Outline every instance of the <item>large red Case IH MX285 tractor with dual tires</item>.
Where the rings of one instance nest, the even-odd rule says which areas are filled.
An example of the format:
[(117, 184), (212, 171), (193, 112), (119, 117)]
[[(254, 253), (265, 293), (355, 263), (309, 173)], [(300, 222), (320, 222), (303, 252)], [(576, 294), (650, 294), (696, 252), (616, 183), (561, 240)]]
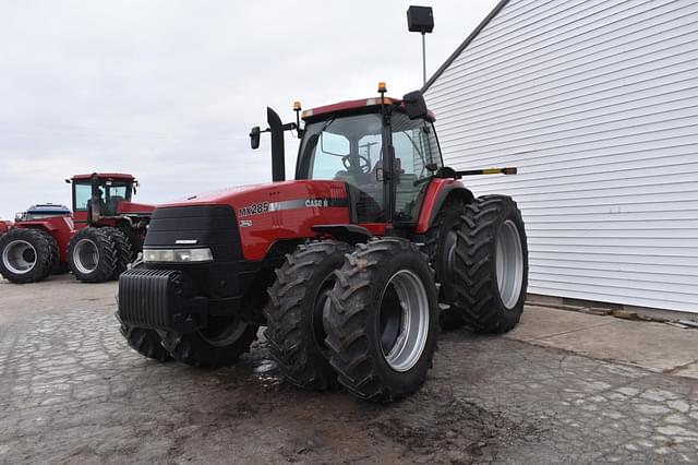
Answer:
[[(158, 206), (143, 261), (119, 279), (122, 334), (161, 361), (234, 362), (265, 336), (292, 383), (392, 402), (418, 390), (443, 325), (502, 333), (519, 321), (528, 252), (504, 195), (476, 198), (443, 166), (419, 92), (267, 109), (273, 183)], [(285, 181), (284, 131), (301, 138)]]

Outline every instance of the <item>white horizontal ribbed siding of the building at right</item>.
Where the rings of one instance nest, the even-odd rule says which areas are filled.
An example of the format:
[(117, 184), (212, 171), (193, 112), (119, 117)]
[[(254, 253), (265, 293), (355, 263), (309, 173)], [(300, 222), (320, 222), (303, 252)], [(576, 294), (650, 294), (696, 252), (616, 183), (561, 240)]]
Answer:
[(698, 312), (698, 2), (512, 0), (426, 90), (526, 220), (529, 291)]

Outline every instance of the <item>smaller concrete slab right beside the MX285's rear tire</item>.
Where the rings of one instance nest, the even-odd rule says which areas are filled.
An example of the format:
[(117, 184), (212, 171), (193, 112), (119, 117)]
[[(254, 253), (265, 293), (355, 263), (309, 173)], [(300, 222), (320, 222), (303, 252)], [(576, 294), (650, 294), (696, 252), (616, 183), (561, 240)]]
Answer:
[(534, 341), (610, 324), (611, 317), (599, 317), (549, 307), (526, 306), (521, 322), (506, 337)]

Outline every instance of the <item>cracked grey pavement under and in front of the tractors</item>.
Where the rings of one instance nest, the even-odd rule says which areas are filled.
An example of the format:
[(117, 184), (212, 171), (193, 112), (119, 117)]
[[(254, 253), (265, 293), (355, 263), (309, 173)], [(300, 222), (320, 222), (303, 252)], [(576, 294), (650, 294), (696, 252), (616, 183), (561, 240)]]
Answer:
[(200, 371), (132, 351), (116, 285), (0, 281), (2, 463), (690, 463), (698, 382), (466, 331), (381, 406), (304, 392), (263, 339)]

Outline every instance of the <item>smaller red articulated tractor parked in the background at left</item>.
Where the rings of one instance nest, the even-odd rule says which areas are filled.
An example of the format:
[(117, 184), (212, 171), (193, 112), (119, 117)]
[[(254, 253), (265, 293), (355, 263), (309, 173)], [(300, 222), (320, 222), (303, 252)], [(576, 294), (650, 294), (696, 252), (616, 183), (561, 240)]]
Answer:
[(65, 182), (72, 184), (72, 217), (37, 205), (0, 236), (0, 274), (9, 281), (35, 283), (69, 269), (85, 283), (116, 279), (142, 249), (154, 206), (131, 202), (133, 176), (76, 175)]

